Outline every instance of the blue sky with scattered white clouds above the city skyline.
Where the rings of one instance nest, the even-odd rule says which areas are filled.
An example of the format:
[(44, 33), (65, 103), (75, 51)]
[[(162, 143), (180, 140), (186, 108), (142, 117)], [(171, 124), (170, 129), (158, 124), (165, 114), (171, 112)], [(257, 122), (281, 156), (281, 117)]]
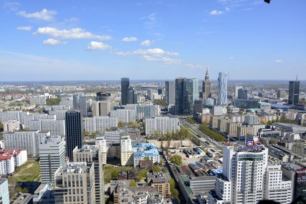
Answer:
[(306, 79), (305, 0), (0, 0), (0, 81)]

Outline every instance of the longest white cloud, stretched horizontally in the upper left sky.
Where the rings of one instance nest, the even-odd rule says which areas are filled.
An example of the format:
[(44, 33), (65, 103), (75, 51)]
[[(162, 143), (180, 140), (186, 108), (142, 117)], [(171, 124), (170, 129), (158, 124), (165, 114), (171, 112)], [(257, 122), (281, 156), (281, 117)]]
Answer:
[(53, 27), (40, 27), (33, 33), (34, 35), (49, 35), (55, 38), (63, 39), (100, 39), (100, 40), (109, 40), (111, 36), (109, 35), (96, 35), (91, 32), (85, 32), (82, 28), (72, 28), (70, 30), (58, 30)]

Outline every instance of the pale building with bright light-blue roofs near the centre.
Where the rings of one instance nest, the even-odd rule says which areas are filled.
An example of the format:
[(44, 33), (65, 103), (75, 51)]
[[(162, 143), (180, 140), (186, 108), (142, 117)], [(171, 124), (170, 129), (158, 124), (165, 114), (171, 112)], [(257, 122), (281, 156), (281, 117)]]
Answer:
[(160, 155), (154, 143), (133, 143), (134, 166), (138, 166), (141, 160), (149, 157), (153, 163), (160, 163)]

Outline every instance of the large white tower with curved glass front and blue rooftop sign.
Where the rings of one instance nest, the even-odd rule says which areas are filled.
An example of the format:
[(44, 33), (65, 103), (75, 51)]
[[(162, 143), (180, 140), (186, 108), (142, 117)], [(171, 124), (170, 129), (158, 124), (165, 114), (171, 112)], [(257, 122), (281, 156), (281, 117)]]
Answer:
[[(214, 189), (216, 198), (211, 198), (212, 193), (209, 195), (210, 202), (216, 204), (223, 200), (224, 203), (257, 204), (263, 200), (267, 165), (268, 148), (264, 146), (223, 145), (222, 177)], [(221, 181), (230, 185), (226, 189), (219, 188)]]

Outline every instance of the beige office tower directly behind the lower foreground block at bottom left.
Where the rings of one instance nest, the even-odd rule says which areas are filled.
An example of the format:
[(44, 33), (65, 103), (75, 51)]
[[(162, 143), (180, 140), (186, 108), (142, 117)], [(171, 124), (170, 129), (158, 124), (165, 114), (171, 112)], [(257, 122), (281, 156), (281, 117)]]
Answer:
[(84, 145), (73, 150), (73, 161), (86, 162), (88, 168), (94, 164), (95, 169), (95, 198), (96, 204), (104, 204), (104, 177), (102, 153), (99, 145)]

